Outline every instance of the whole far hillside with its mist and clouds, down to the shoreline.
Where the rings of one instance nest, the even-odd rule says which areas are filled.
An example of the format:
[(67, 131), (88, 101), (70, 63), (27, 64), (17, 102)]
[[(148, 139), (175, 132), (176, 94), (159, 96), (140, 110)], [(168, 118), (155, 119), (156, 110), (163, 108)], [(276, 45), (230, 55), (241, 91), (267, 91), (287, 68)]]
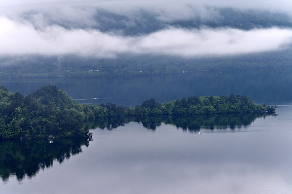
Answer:
[(289, 66), (290, 4), (259, 5), (5, 2), (0, 8), (0, 77), (161, 75)]

